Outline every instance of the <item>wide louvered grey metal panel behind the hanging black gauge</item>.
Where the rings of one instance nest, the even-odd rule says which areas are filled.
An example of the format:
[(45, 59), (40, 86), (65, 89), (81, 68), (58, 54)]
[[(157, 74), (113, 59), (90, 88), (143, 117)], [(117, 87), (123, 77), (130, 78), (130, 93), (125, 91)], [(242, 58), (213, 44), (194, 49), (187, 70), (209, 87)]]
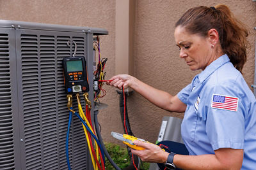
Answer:
[[(86, 56), (85, 34), (17, 29), (16, 39), (20, 134), (24, 139), (22, 169), (68, 169), (67, 94), (61, 62), (74, 53), (74, 46), (67, 45), (68, 40), (76, 41), (77, 55)], [(72, 169), (86, 169), (87, 144), (76, 117), (72, 117), (69, 141)]]

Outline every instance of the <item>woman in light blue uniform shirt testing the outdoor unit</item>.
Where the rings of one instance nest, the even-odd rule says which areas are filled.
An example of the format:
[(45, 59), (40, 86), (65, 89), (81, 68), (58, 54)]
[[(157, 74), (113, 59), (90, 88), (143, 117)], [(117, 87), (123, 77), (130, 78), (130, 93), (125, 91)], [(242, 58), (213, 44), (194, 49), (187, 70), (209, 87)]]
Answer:
[(189, 155), (141, 141), (135, 145), (145, 150), (132, 153), (181, 169), (255, 169), (256, 101), (241, 74), (247, 35), (225, 5), (191, 8), (174, 32), (180, 57), (191, 70), (202, 69), (187, 87), (171, 96), (129, 75), (111, 78), (110, 85), (131, 87), (164, 110), (185, 111), (181, 133)]

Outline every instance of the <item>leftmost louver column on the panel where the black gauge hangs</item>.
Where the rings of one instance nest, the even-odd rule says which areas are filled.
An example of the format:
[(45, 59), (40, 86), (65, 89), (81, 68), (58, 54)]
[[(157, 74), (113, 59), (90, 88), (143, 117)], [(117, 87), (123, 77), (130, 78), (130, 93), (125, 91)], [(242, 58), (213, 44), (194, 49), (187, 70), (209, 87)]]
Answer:
[(38, 39), (36, 35), (21, 35), (20, 39), (26, 169), (42, 169)]

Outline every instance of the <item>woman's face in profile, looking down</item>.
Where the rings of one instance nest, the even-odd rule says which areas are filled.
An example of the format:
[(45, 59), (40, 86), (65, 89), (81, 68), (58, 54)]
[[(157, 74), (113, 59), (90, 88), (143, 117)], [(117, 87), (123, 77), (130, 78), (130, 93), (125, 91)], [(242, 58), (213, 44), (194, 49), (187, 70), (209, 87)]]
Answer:
[(174, 37), (176, 45), (180, 48), (180, 58), (186, 61), (191, 70), (204, 70), (211, 64), (211, 44), (207, 38), (189, 34), (180, 26), (175, 29)]

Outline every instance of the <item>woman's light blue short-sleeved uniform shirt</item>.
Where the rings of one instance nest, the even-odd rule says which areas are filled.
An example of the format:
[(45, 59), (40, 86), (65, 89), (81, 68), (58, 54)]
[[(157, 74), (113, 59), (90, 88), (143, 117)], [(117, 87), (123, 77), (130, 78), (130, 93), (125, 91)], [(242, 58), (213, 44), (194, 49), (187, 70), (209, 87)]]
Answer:
[[(244, 149), (242, 169), (256, 169), (255, 97), (227, 55), (196, 75), (178, 97), (187, 105), (181, 134), (189, 155), (214, 154), (219, 148)], [(238, 101), (225, 109), (212, 105), (228, 97), (238, 97)]]

